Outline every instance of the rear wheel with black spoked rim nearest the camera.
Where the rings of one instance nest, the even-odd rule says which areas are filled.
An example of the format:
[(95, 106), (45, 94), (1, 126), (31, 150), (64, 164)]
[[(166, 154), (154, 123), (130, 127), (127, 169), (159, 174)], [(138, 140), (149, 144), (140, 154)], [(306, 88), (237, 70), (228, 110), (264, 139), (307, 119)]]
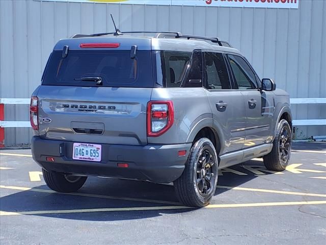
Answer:
[(193, 144), (182, 175), (174, 181), (176, 195), (186, 206), (204, 207), (212, 199), (217, 183), (218, 156), (212, 142), (201, 138)]

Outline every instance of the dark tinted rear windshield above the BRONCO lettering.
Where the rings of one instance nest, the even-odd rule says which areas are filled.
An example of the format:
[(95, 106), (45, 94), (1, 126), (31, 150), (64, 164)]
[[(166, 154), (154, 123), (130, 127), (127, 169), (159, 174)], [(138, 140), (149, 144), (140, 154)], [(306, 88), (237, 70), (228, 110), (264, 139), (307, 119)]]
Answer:
[(100, 77), (105, 87), (153, 87), (151, 51), (70, 50), (53, 51), (45, 70), (43, 85), (97, 86), (83, 77)]

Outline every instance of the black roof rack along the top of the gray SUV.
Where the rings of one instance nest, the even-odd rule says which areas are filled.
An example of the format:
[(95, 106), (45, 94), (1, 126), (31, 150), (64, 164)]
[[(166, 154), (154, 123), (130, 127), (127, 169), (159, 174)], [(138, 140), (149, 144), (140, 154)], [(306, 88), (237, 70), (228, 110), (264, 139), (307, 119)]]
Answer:
[[(196, 36), (196, 35), (186, 35), (182, 34), (180, 32), (148, 32), (148, 31), (143, 31), (143, 32), (119, 32), (117, 35), (116, 32), (104, 32), (104, 33), (94, 33), (94, 34), (75, 34), (71, 38), (78, 38), (78, 37), (99, 37), (99, 36), (105, 36), (105, 35), (123, 35), (123, 34), (135, 34), (135, 33), (154, 33), (156, 34), (154, 37), (155, 38), (166, 38), (166, 37), (175, 37), (175, 38), (186, 38), (186, 39), (202, 39), (202, 40), (207, 40), (211, 41), (213, 43), (217, 43), (220, 46), (227, 46), (227, 47), (232, 47), (228, 42), (220, 40), (218, 37), (203, 37), (203, 36)], [(224, 44), (224, 45), (223, 45)]]

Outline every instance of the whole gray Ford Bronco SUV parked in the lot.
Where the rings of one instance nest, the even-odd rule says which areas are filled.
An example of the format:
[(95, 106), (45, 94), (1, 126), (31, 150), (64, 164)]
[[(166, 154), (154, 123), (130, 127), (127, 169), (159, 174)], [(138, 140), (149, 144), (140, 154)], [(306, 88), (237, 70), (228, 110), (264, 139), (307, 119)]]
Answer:
[(285, 169), (288, 93), (219, 38), (133, 35), (78, 34), (53, 48), (30, 107), (49, 188), (74, 192), (88, 176), (173, 182), (181, 203), (202, 207), (221, 168), (263, 157)]

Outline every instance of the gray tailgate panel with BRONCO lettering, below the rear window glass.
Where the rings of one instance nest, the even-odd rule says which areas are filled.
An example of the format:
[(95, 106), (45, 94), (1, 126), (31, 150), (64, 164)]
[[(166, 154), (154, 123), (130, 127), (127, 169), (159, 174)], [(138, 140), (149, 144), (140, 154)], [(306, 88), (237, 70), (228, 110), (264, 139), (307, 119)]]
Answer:
[(152, 88), (41, 86), (39, 134), (74, 142), (146, 145)]

